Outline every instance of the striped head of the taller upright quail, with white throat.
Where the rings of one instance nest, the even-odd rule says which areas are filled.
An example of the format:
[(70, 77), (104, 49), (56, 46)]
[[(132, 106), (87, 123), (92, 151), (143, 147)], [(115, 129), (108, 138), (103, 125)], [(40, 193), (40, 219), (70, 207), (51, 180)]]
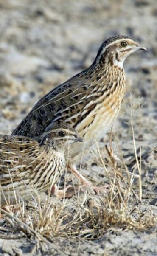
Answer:
[(95, 62), (99, 62), (101, 65), (107, 63), (123, 68), (126, 57), (138, 50), (146, 50), (146, 48), (130, 37), (110, 37), (99, 48)]

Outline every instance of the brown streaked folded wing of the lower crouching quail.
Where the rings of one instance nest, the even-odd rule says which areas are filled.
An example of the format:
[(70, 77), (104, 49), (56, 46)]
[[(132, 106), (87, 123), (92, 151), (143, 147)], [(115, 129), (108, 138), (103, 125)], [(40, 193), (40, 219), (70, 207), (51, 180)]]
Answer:
[(0, 135), (1, 186), (8, 183), (10, 176), (14, 181), (19, 180), (19, 174), (25, 174), (38, 149), (38, 142), (32, 139), (23, 136)]

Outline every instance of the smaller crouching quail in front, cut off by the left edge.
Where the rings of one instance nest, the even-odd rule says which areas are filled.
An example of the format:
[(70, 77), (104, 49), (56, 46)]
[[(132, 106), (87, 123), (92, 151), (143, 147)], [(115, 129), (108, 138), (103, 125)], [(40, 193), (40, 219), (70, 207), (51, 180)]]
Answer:
[(63, 196), (67, 188), (54, 191), (64, 171), (64, 151), (69, 143), (83, 141), (75, 129), (59, 124), (36, 140), (18, 135), (0, 135), (1, 205), (18, 196), (28, 199), (42, 191)]

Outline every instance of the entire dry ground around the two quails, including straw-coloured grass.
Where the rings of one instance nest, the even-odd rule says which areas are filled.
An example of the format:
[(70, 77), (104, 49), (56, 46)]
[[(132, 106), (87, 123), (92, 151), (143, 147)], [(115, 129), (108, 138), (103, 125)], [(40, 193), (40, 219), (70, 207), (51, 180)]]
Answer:
[[(45, 203), (43, 195), (10, 208), (0, 220), (0, 255), (157, 255), (156, 0), (1, 0), (0, 21), (5, 134), (45, 93), (88, 67), (104, 39), (127, 34), (148, 48), (125, 63), (127, 93), (112, 131), (120, 160), (107, 157), (108, 137), (81, 163), (88, 179), (110, 183), (109, 194), (76, 189), (68, 200)], [(70, 173), (66, 182), (78, 186)]]

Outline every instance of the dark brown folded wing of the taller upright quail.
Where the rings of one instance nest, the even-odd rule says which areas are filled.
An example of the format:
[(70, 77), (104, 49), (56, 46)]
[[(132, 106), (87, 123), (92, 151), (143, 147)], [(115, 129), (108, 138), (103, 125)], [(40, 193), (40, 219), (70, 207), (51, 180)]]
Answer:
[[(93, 101), (98, 98), (91, 78), (88, 81), (85, 75), (85, 72), (79, 73), (41, 98), (12, 134), (36, 138), (49, 125), (59, 122), (66, 122), (75, 128), (88, 111), (95, 108)], [(82, 109), (84, 116), (81, 115)]]

